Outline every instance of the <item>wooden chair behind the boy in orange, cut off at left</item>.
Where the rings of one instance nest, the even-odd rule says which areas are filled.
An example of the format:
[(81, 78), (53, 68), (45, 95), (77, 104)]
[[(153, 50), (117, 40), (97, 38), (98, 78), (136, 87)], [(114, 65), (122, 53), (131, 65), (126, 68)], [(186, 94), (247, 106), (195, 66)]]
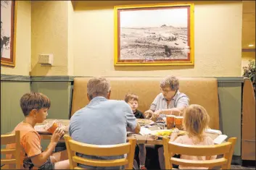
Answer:
[[(2, 148), (2, 145), (15, 144), (14, 149)], [(20, 131), (15, 131), (15, 134), (1, 135), (1, 169), (10, 168), (12, 164), (15, 164), (16, 169), (20, 169)], [(11, 158), (7, 155), (12, 155)]]

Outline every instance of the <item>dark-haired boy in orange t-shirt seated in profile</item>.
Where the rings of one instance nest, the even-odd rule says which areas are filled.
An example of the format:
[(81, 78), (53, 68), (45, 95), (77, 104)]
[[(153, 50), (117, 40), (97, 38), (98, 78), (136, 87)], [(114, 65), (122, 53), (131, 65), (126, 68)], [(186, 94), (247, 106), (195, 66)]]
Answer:
[[(63, 129), (55, 130), (44, 152), (41, 148), (41, 137), (34, 129), (37, 123), (44, 122), (50, 106), (50, 99), (42, 93), (26, 93), (20, 98), (20, 107), (25, 119), (17, 124), (12, 133), (20, 130), (21, 168), (23, 169), (69, 169), (67, 150), (52, 154), (60, 137), (65, 134)], [(7, 145), (7, 148), (15, 148), (15, 144)]]

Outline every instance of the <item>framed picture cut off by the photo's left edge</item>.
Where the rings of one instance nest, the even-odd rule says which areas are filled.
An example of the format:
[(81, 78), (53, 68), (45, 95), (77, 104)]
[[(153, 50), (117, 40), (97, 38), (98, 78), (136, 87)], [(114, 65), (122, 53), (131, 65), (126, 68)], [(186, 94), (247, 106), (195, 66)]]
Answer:
[(1, 1), (1, 66), (15, 67), (17, 1)]

